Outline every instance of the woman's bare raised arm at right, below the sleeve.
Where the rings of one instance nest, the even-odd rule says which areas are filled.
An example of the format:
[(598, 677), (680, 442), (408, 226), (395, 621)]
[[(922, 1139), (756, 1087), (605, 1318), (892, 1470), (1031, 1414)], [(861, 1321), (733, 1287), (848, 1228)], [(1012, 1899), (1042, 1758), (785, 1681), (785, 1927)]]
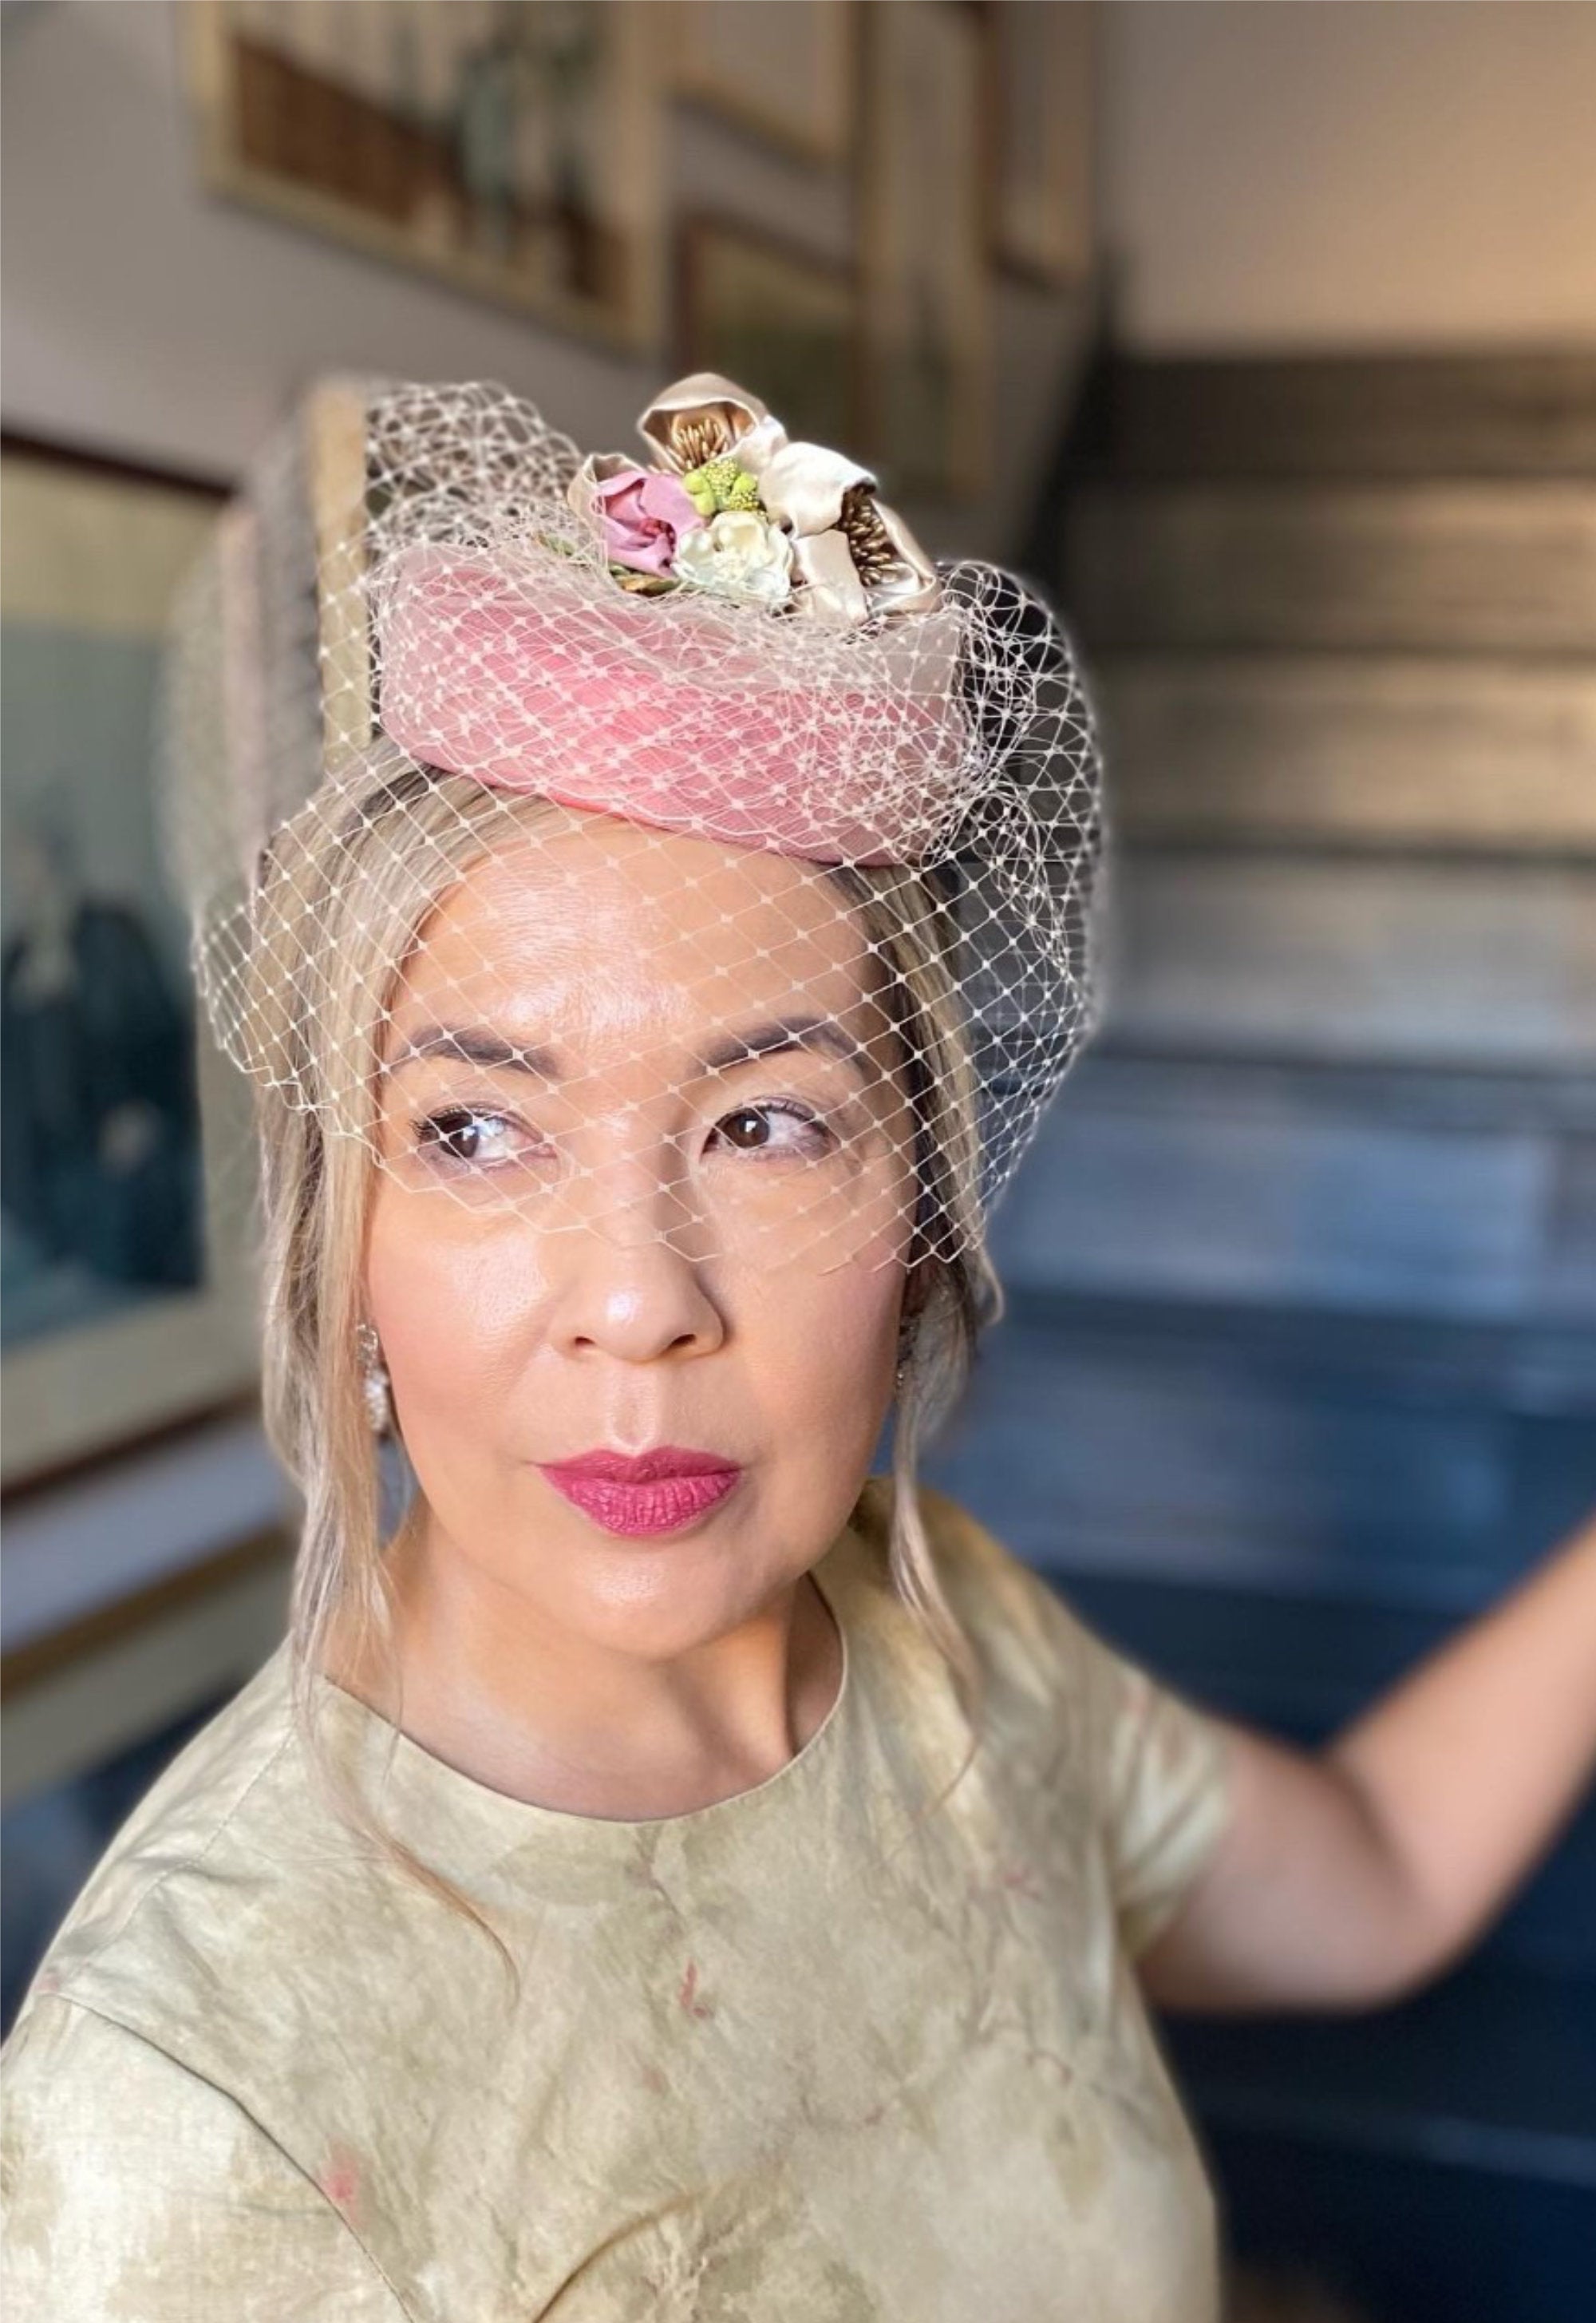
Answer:
[(1354, 2009), (1447, 1968), (1596, 1768), (1596, 1517), (1320, 1754), (1241, 1726), (1231, 1814), (1141, 1956), (1182, 2009)]

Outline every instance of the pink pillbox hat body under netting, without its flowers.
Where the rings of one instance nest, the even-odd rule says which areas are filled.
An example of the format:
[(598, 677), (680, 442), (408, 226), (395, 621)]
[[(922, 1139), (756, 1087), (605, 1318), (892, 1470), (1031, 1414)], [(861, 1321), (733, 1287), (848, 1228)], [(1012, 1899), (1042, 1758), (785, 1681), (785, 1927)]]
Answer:
[(913, 650), (860, 639), (853, 685), (855, 641), (825, 641), (820, 699), (767, 611), (627, 595), (551, 548), (409, 544), (374, 613), (383, 732), (495, 790), (857, 864), (913, 862), (966, 804), (952, 613), (922, 616)]

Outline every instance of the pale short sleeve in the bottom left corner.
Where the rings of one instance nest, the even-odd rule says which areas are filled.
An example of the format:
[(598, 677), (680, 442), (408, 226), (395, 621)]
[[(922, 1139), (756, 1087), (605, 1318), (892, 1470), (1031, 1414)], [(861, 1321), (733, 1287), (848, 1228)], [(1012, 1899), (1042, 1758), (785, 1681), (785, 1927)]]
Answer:
[(281, 2146), (137, 2033), (35, 1998), (0, 2109), (5, 2323), (402, 2323)]

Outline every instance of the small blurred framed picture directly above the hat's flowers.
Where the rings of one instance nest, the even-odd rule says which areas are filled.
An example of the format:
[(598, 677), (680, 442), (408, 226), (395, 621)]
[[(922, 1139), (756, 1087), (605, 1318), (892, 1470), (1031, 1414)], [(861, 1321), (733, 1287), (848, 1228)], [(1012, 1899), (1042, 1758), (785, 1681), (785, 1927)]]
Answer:
[(762, 395), (799, 441), (860, 441), (855, 314), (848, 267), (727, 218), (681, 230), (683, 369)]

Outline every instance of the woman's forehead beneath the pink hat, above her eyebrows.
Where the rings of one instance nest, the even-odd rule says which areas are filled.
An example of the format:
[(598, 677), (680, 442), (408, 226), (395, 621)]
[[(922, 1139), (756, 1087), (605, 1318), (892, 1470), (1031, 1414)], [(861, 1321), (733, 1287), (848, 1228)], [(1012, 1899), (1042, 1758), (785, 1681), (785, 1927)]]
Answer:
[(460, 878), (404, 964), (393, 1027), (469, 1008), (527, 1043), (692, 1043), (748, 1015), (857, 1017), (874, 980), (857, 911), (820, 866), (595, 815)]

